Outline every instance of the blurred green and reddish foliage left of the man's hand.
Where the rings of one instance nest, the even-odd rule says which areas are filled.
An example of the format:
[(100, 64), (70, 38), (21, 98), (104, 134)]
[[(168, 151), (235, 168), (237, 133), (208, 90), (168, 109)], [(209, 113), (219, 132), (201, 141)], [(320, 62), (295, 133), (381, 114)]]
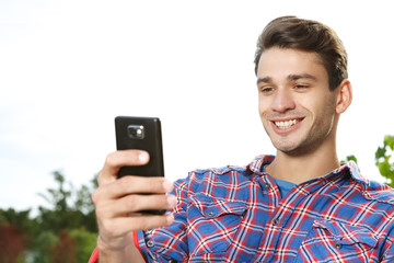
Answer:
[(48, 206), (39, 206), (35, 218), (31, 209), (0, 209), (0, 262), (88, 262), (97, 238), (91, 201), (96, 176), (79, 188), (58, 171), (53, 176), (56, 186), (39, 193)]

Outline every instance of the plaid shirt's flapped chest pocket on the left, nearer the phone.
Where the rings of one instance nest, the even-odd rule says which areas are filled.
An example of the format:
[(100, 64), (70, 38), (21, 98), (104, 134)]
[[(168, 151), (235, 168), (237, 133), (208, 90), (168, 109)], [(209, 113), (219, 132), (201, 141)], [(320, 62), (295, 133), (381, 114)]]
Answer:
[(189, 252), (194, 255), (221, 253), (231, 245), (246, 210), (242, 202), (229, 202), (206, 195), (190, 196), (187, 208)]

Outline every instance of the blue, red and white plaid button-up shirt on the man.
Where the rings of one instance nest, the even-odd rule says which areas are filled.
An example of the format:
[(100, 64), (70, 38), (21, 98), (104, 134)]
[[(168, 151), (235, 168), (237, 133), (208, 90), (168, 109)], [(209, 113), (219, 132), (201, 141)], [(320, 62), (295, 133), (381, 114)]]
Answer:
[(175, 182), (175, 221), (138, 231), (148, 262), (394, 262), (394, 192), (348, 162), (285, 198), (260, 167), (197, 170)]

